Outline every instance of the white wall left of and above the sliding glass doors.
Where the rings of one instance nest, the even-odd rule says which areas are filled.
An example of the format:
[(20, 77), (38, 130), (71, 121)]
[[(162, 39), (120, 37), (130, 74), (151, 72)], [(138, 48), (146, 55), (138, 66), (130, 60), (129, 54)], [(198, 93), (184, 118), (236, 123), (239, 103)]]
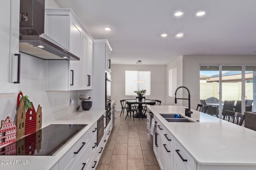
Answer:
[[(200, 101), (200, 64), (256, 64), (255, 56), (183, 56), (183, 86), (191, 93), (191, 107)], [(185, 92), (185, 91), (184, 91)], [(183, 93), (184, 95), (187, 93)], [(186, 97), (184, 96), (183, 97)], [(183, 101), (188, 106), (188, 101)]]

